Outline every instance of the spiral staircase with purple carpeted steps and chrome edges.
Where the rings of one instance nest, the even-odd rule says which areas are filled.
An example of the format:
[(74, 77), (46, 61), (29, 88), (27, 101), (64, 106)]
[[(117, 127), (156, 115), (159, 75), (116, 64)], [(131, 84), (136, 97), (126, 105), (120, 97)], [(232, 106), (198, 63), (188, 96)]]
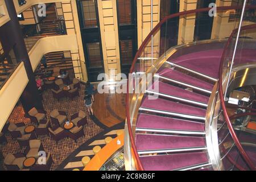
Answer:
[[(175, 15), (164, 19), (158, 24), (159, 27), (172, 17)], [(142, 57), (144, 45), (149, 44), (148, 42), (152, 40), (151, 36), (157, 29), (159, 30), (159, 27), (154, 28), (144, 40), (144, 44), (135, 56), (134, 65), (137, 59)], [(150, 171), (215, 169), (209, 156), (208, 131), (205, 122), (209, 114), (208, 107), (212, 104), (212, 101), (209, 101), (210, 96), (216, 93), (216, 90), (213, 93), (213, 89), (214, 85), (215, 88), (217, 87), (226, 41), (224, 40), (222, 46), (212, 46), (207, 50), (203, 48), (203, 51), (195, 46), (188, 53), (167, 57), (160, 67), (155, 66), (152, 86), (147, 88), (143, 96), (138, 99), (135, 109), (131, 108), (130, 102), (138, 97), (131, 99), (127, 94), (129, 104), (127, 105), (128, 130), (126, 131), (127, 133), (129, 131), (131, 150), (134, 151), (131, 158), (136, 161), (136, 169)], [(203, 45), (207, 47), (207, 43)], [(248, 60), (256, 61), (255, 51), (245, 49), (239, 52), (239, 55), (241, 63), (247, 63)], [(132, 67), (131, 73), (134, 72), (135, 68)], [(145, 72), (147, 73), (148, 69)], [(157, 98), (152, 99), (150, 96), (157, 96)], [(130, 113), (133, 113), (131, 118)], [(221, 127), (225, 125), (223, 118), (218, 121), (220, 124), (218, 125), (218, 131), (220, 130), (218, 146), (230, 140), (233, 141), (233, 135), (230, 134), (232, 131), (228, 133), (221, 131)], [(129, 126), (130, 123), (131, 126)], [(251, 137), (240, 138), (238, 142), (246, 142), (248, 138)], [(230, 161), (233, 161), (232, 163), (222, 160), (225, 163), (225, 169), (240, 169), (241, 166), (243, 166), (242, 169), (250, 169), (243, 156), (239, 155), (241, 151), (233, 146), (229, 147), (228, 152), (222, 156), (222, 159), (227, 156)], [(253, 152), (250, 148), (247, 154), (250, 155), (255, 166), (255, 151)], [(235, 163), (239, 163), (240, 167), (236, 167)]]

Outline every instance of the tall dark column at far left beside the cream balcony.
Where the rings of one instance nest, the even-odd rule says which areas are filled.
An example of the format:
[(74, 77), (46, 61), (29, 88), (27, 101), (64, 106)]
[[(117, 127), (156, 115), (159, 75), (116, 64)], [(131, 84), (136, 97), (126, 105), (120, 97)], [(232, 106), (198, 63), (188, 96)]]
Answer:
[[(43, 109), (41, 97), (36, 86), (35, 76), (32, 71), (30, 58), (28, 57), (26, 45), (20, 30), (19, 21), (15, 11), (13, 1), (5, 0), (6, 7), (10, 16), (10, 21), (2, 27), (1, 42), (5, 46), (14, 48), (15, 56), (18, 61), (23, 61), (28, 76), (28, 84), (24, 89), (20, 101), (23, 109), (27, 113), (32, 107)], [(4, 48), (5, 49), (5, 48)]]

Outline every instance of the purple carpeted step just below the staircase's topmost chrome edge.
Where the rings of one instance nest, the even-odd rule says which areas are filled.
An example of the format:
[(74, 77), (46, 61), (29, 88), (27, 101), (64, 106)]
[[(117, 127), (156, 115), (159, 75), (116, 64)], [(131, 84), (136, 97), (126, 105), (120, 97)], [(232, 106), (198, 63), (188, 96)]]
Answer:
[(209, 91), (212, 91), (212, 88), (213, 88), (213, 85), (209, 84), (208, 82), (199, 80), (198, 78), (186, 75), (184, 73), (178, 72), (171, 68), (163, 69), (161, 72), (159, 72), (159, 75), (163, 76), (163, 77), (170, 78), (172, 80), (183, 82), (185, 84), (203, 88), (203, 89), (206, 89)]

